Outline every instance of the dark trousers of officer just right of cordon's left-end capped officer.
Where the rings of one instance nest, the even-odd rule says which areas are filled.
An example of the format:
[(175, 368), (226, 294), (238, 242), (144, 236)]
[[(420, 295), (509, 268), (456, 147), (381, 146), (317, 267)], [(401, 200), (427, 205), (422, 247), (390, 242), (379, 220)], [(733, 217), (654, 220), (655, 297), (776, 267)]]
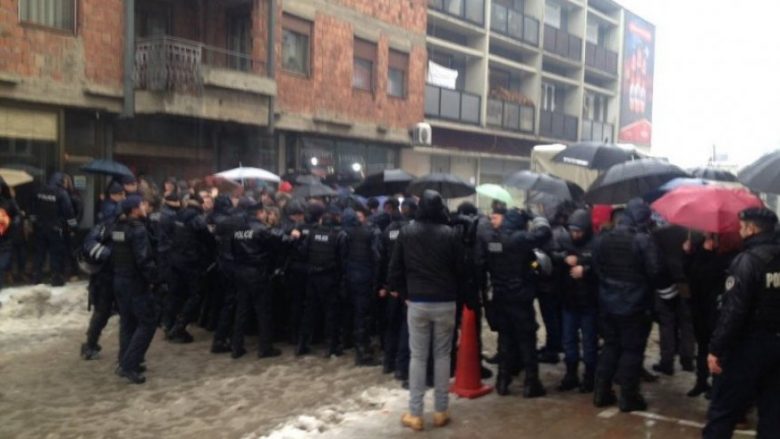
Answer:
[(171, 267), (164, 321), (166, 329), (174, 324), (185, 327), (195, 320), (201, 304), (203, 278), (203, 273), (175, 265)]

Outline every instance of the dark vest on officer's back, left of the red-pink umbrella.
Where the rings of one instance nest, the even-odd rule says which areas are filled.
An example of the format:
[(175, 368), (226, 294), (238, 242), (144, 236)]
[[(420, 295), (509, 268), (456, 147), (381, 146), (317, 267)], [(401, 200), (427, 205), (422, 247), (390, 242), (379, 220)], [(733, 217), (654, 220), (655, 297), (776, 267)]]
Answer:
[(634, 251), (636, 235), (628, 230), (607, 232), (599, 249), (602, 272), (605, 278), (628, 283), (645, 282), (645, 277)]

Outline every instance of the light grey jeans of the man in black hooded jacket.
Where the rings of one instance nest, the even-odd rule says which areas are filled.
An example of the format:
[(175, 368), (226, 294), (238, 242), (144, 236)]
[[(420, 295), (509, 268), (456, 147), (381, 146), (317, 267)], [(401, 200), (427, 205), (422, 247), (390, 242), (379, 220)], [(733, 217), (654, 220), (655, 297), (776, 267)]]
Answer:
[(449, 407), (450, 353), (455, 333), (455, 302), (409, 302), (409, 412), (422, 416), (428, 353), (433, 344), (434, 404), (437, 412)]

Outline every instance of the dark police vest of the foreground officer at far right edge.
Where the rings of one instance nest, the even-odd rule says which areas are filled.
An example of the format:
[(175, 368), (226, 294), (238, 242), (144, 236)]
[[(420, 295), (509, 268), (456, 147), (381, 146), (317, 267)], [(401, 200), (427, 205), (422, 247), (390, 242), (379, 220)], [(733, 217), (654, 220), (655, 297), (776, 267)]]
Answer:
[(753, 327), (780, 332), (780, 246), (760, 246), (748, 250), (757, 256), (761, 269), (761, 289), (753, 311)]

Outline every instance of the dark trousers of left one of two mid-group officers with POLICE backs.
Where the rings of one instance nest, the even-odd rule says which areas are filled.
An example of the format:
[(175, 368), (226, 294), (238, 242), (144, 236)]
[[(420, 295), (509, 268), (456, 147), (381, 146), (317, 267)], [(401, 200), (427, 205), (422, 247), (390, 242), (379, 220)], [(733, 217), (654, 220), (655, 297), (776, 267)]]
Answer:
[(257, 319), (257, 338), (260, 352), (271, 349), (273, 334), (271, 285), (264, 270), (254, 267), (236, 267), (236, 319), (231, 346), (234, 352), (244, 348), (244, 332), (252, 312)]

